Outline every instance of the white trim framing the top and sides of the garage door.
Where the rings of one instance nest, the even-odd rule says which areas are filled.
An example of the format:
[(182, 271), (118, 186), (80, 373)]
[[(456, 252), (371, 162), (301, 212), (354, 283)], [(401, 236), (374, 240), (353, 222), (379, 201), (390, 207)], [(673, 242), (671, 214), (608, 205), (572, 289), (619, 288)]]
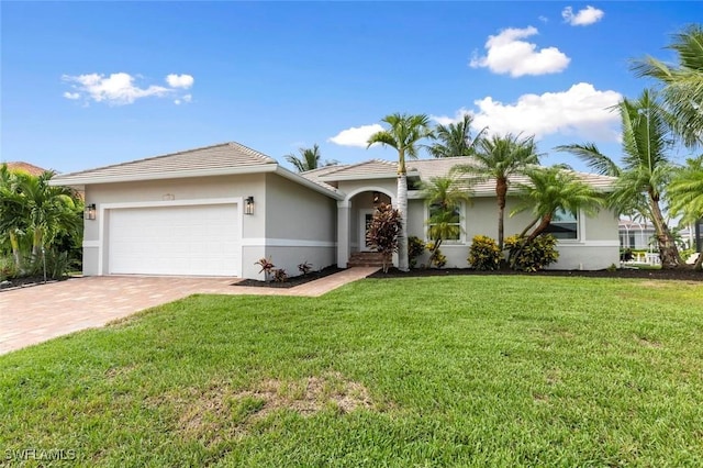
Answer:
[[(104, 258), (103, 255), (105, 253), (105, 232), (108, 231), (108, 216), (105, 215), (105, 211), (108, 210), (120, 210), (125, 208), (158, 208), (158, 207), (196, 207), (196, 205), (208, 205), (208, 204), (236, 204), (238, 215), (238, 236), (242, 238), (244, 234), (244, 210), (242, 210), (244, 199), (242, 197), (232, 197), (232, 198), (203, 198), (203, 199), (192, 199), (192, 200), (166, 200), (166, 201), (129, 201), (121, 203), (100, 203), (98, 205), (98, 241), (88, 241), (88, 242), (97, 242), (98, 243), (98, 275), (109, 275), (105, 270)], [(244, 248), (239, 243), (239, 258), (244, 259)], [(239, 265), (239, 276), (242, 276), (242, 265)]]

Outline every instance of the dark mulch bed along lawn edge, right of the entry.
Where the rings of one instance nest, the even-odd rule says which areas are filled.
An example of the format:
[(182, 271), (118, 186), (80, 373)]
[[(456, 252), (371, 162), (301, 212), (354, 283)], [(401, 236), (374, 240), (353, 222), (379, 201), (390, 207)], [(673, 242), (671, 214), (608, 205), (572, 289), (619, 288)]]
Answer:
[(417, 278), (433, 276), (460, 276), (460, 275), (529, 275), (529, 276), (561, 276), (561, 277), (584, 277), (584, 278), (645, 278), (645, 279), (669, 279), (682, 281), (703, 281), (703, 271), (693, 270), (692, 268), (682, 268), (676, 270), (645, 270), (620, 268), (613, 271), (609, 270), (545, 270), (535, 272), (514, 271), (511, 269), (500, 269), (495, 271), (477, 271), (470, 268), (423, 268), (412, 269), (410, 271), (400, 271), (391, 268), (387, 274), (379, 270), (369, 276), (369, 278)]

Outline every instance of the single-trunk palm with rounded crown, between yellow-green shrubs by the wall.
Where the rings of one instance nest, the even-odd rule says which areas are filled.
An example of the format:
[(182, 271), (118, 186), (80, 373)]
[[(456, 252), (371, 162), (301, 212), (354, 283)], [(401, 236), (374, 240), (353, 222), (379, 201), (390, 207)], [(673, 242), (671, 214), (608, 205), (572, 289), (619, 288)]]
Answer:
[(468, 174), (473, 180), (495, 179), (498, 198), (498, 247), (503, 250), (505, 200), (510, 177), (524, 174), (532, 166), (539, 164), (539, 154), (534, 137), (521, 138), (518, 135), (493, 135), (481, 138), (473, 155), (473, 163), (458, 165), (454, 171)]

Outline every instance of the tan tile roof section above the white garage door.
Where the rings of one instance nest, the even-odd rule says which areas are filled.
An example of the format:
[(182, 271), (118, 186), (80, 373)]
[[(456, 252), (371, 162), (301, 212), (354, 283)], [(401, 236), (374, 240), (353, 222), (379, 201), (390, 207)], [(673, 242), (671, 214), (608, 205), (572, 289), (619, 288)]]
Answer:
[(92, 181), (111, 178), (132, 178), (143, 180), (155, 175), (176, 175), (179, 172), (213, 171), (234, 167), (276, 165), (277, 161), (263, 153), (238, 143), (222, 143), (202, 148), (188, 149), (79, 172), (57, 176), (62, 179), (86, 179)]

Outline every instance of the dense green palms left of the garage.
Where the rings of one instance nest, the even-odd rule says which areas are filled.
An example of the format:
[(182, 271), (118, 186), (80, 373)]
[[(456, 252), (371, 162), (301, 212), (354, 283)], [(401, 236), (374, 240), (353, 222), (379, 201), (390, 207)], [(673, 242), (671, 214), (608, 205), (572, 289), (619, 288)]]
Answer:
[(53, 176), (0, 166), (0, 256), (11, 255), (20, 275), (45, 249), (82, 237), (82, 200), (68, 187), (49, 186)]

